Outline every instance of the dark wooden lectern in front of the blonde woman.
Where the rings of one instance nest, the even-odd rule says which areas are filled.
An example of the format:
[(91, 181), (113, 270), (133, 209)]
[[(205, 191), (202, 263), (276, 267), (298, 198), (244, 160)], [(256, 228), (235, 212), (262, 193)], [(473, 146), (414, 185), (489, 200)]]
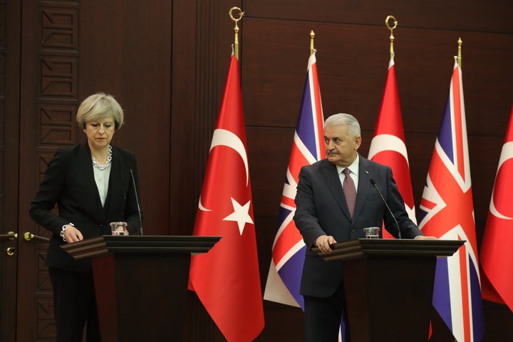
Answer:
[(62, 248), (92, 259), (102, 341), (182, 341), (191, 254), (220, 238), (105, 235)]

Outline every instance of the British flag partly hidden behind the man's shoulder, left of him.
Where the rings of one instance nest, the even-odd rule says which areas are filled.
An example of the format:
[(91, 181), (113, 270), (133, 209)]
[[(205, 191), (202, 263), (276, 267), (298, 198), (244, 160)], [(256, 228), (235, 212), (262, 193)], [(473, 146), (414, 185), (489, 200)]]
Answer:
[(296, 187), (299, 170), (326, 157), (323, 140), (323, 110), (315, 53), (309, 58), (301, 110), (281, 195), (279, 227), (272, 247), (264, 299), (304, 309), (299, 284), (306, 246), (294, 224)]

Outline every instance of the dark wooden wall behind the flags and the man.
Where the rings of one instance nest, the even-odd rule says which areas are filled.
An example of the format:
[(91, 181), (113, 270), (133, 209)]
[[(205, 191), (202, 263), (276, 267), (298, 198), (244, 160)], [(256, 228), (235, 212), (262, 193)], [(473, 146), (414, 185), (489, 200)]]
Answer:
[[(306, 0), (263, 0), (245, 1), (243, 6), (242, 92), (262, 289), (304, 89), (309, 32), (316, 33), (324, 116), (340, 112), (356, 115), (363, 130), (360, 152), (366, 156), (387, 75), (390, 31), (385, 27), (385, 17), (389, 14), (399, 21), (394, 32), (395, 71), (416, 207), (445, 110), (457, 39), (462, 38), (463, 88), (480, 245), (513, 102), (513, 26), (507, 14), (512, 5), (508, 1), (324, 0), (312, 4)], [(493, 321), (494, 331), (504, 329), (513, 319), (504, 306), (484, 305), (487, 324)], [(264, 307), (266, 327), (259, 341), (274, 341), (269, 336), (284, 331), (296, 334), (297, 327), (269, 323), (284, 315), (294, 316), (295, 308), (268, 301), (264, 301)], [(291, 341), (301, 341), (301, 333)], [(495, 341), (496, 336), (487, 331), (484, 341)]]

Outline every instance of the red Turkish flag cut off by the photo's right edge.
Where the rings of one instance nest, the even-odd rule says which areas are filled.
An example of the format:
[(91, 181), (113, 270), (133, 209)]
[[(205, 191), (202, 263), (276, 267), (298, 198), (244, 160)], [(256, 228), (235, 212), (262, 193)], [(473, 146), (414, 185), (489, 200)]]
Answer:
[(502, 152), (490, 199), (488, 219), (481, 245), (484, 274), (482, 297), (506, 304), (513, 311), (513, 249), (509, 242), (513, 231), (513, 108), (502, 145)]

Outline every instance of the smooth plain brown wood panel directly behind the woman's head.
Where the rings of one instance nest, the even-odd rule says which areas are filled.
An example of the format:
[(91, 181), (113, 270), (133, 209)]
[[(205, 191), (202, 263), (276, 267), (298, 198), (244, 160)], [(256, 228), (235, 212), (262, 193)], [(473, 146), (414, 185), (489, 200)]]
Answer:
[(125, 110), (113, 143), (138, 157), (145, 234), (170, 234), (172, 1), (82, 1), (81, 100), (103, 91)]

